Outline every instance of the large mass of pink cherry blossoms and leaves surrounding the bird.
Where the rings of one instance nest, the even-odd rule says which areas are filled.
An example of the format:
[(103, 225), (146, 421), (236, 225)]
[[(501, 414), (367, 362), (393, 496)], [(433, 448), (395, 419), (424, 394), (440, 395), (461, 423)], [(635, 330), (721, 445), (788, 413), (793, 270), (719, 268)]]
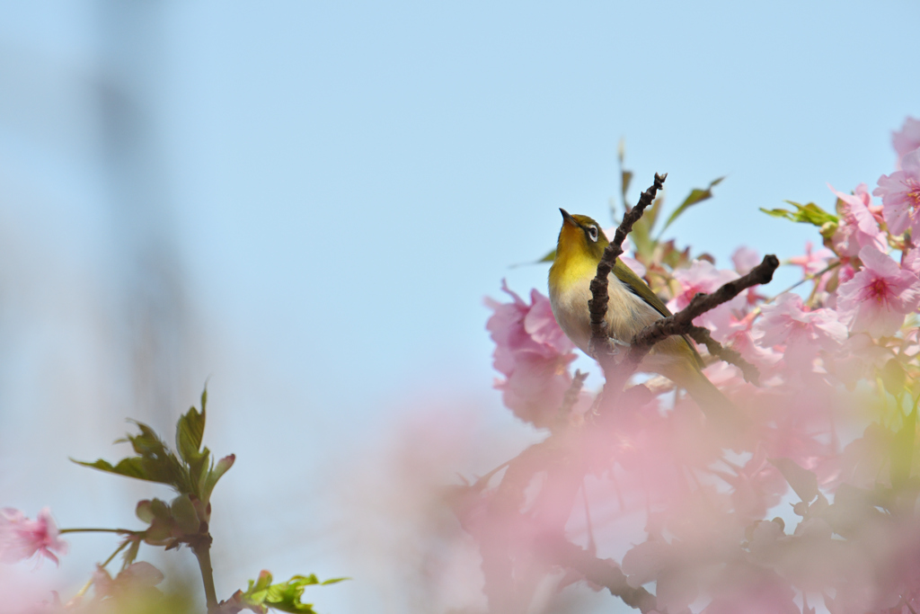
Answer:
[[(643, 612), (920, 611), (920, 121), (892, 144), (895, 168), (876, 187), (765, 211), (815, 226), (821, 246), (786, 260), (798, 284), (755, 286), (696, 319), (760, 372), (754, 385), (707, 357), (707, 377), (752, 424), (730, 447), (661, 377), (628, 388), (612, 415), (550, 423), (567, 410), (571, 344), (536, 290), (529, 305), (489, 303), (505, 404), (551, 429), (458, 506), (491, 609), (524, 611), (553, 573), (599, 587), (605, 565), (625, 579), (607, 588)], [(740, 248), (719, 269), (651, 239), (656, 207), (631, 256), (672, 311), (760, 260)], [(593, 572), (547, 546), (559, 539)]]

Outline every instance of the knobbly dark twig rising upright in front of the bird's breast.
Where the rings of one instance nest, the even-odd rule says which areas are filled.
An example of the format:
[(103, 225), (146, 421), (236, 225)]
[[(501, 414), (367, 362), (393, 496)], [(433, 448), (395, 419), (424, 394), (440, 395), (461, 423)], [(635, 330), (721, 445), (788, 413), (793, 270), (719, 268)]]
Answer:
[(667, 177), (667, 173), (655, 173), (655, 182), (648, 190), (642, 192), (636, 206), (623, 214), (623, 221), (616, 228), (614, 240), (604, 249), (604, 256), (597, 263), (597, 274), (591, 281), (591, 300), (588, 301), (588, 309), (591, 311), (591, 346), (594, 348), (595, 357), (613, 353), (605, 319), (607, 302), (610, 299), (607, 295), (607, 276), (613, 271), (616, 259), (623, 253), (623, 241), (632, 231), (633, 225), (642, 217), (645, 208), (654, 202), (655, 195), (661, 190)]

